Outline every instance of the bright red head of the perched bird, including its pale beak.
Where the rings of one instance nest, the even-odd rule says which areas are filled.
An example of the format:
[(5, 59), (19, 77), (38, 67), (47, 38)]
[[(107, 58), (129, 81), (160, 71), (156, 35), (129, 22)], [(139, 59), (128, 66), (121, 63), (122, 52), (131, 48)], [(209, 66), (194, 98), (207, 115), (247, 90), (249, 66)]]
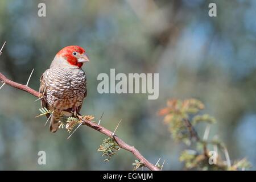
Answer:
[(69, 64), (75, 65), (79, 68), (82, 64), (89, 62), (89, 57), (85, 53), (85, 49), (80, 46), (67, 46), (61, 49), (57, 56), (63, 57)]

